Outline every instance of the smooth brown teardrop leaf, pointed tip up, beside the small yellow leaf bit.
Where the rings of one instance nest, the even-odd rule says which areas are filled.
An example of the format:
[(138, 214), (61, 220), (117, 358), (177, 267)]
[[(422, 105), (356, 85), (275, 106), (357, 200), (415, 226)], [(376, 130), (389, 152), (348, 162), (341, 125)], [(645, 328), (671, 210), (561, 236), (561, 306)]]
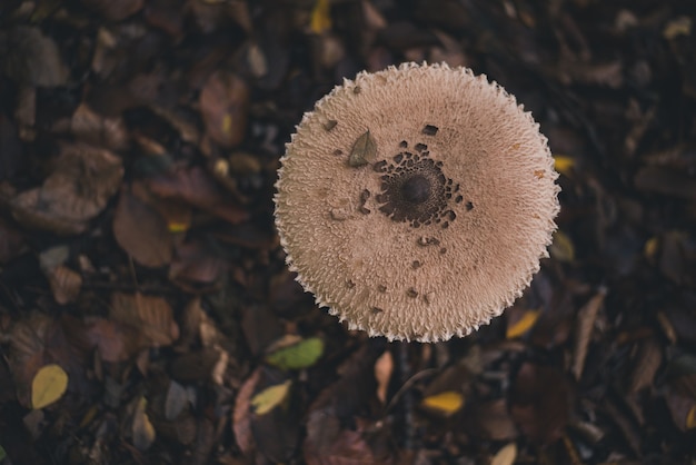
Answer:
[(113, 236), (140, 265), (160, 267), (171, 261), (172, 240), (157, 210), (121, 189), (113, 217)]

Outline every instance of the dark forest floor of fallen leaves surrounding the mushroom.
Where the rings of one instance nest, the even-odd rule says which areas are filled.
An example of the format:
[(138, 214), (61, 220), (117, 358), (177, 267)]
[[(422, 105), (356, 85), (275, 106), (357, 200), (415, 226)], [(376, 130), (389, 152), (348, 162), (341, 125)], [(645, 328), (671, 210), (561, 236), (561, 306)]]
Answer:
[[(0, 464), (696, 463), (695, 21), (683, 0), (2, 0)], [(344, 77), (424, 60), (533, 112), (561, 212), (503, 316), (388, 343), (294, 280), (274, 184)]]

